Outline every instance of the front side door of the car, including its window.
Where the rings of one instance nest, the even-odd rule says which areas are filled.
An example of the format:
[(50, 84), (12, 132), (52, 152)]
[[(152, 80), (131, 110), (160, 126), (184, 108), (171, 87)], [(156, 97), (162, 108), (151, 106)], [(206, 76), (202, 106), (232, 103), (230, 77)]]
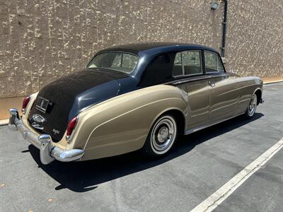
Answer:
[(210, 77), (209, 121), (236, 115), (239, 96), (236, 76), (226, 73), (216, 52), (204, 51), (204, 64), (206, 75)]

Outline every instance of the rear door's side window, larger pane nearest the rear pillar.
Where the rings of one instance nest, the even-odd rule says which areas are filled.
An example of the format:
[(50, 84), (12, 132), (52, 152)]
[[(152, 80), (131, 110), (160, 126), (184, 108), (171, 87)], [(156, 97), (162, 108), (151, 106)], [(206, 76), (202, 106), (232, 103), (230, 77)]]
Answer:
[(200, 51), (178, 52), (173, 64), (173, 76), (187, 76), (202, 73)]

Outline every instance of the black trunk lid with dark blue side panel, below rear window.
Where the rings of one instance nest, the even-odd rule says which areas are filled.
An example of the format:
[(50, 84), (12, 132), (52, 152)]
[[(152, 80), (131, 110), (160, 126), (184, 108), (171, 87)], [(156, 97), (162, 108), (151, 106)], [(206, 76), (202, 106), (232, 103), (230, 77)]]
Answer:
[(28, 121), (40, 134), (50, 134), (53, 141), (59, 141), (69, 120), (83, 108), (117, 95), (121, 78), (127, 75), (107, 69), (86, 69), (59, 78), (40, 90)]

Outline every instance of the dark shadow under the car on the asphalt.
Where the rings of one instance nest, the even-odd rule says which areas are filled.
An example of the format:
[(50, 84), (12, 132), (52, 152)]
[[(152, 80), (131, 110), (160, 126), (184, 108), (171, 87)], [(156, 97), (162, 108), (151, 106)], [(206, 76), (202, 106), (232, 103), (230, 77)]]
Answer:
[(39, 150), (33, 145), (28, 146), (28, 149), (38, 167), (59, 182), (60, 185), (55, 188), (56, 190), (67, 188), (74, 192), (88, 192), (89, 190), (96, 189), (103, 182), (166, 163), (168, 160), (190, 152), (192, 148), (204, 141), (260, 119), (262, 116), (263, 114), (256, 113), (252, 119), (236, 117), (194, 134), (182, 136), (171, 153), (159, 160), (146, 160), (139, 151), (135, 151), (111, 158), (72, 163), (54, 161), (49, 165), (42, 165), (40, 163)]

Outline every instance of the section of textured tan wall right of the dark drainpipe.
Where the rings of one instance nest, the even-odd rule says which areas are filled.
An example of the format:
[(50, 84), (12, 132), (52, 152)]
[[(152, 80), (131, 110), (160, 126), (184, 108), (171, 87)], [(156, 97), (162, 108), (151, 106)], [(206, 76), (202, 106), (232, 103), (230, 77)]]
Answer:
[(283, 76), (283, 1), (229, 1), (226, 57), (230, 71)]

